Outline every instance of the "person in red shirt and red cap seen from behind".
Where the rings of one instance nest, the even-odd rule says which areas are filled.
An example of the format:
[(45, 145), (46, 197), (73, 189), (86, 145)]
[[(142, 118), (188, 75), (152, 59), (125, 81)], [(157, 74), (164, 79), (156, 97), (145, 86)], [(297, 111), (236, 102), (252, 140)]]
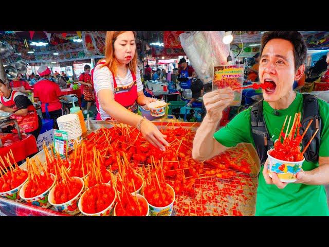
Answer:
[(51, 71), (47, 66), (40, 66), (38, 73), (42, 78), (34, 85), (34, 99), (41, 101), (43, 118), (52, 119), (53, 128), (58, 129), (57, 118), (63, 115), (62, 104), (59, 100), (66, 98), (62, 96), (58, 84), (49, 80)]

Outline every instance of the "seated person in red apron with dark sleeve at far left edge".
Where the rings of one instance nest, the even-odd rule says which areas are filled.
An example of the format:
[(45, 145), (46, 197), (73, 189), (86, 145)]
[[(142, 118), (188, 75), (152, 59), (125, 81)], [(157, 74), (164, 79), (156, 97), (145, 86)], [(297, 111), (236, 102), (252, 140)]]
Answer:
[[(35, 111), (35, 108), (29, 98), (21, 92), (11, 90), (0, 79), (0, 110), (5, 112), (13, 112), (17, 108), (21, 110), (15, 112), (10, 118), (16, 119), (20, 129), (23, 129), (26, 134), (31, 134), (38, 139), (38, 135), (42, 128), (41, 118)], [(12, 126), (7, 128), (8, 132), (17, 133)], [(6, 132), (7, 132), (6, 131)]]

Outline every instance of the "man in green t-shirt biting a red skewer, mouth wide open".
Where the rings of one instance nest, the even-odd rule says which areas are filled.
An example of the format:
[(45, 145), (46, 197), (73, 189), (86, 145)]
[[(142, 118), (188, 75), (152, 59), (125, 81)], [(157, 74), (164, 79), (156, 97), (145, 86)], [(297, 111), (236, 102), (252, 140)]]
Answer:
[[(263, 117), (272, 140), (277, 140), (286, 115), (303, 114), (303, 95), (293, 91), (293, 83), (304, 73), (306, 45), (297, 31), (268, 31), (262, 37), (259, 78), (273, 87), (263, 90)], [(223, 110), (232, 102), (233, 91), (218, 89), (204, 95), (207, 109), (193, 144), (193, 158), (209, 158), (239, 143), (251, 143), (251, 108), (235, 116), (215, 132)], [(283, 183), (275, 172), (268, 175), (267, 160), (261, 167), (257, 189), (257, 216), (329, 216), (324, 185), (329, 183), (329, 105), (317, 99), (321, 118), (319, 157), (303, 163), (297, 181)], [(276, 114), (273, 114), (276, 113)], [(215, 133), (214, 133), (215, 132)]]

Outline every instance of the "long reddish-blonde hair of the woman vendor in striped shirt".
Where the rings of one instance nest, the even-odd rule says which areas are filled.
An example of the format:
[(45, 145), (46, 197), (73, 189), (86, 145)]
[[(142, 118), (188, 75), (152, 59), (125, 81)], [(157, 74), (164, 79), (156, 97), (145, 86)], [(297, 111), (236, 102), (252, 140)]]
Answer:
[[(105, 64), (102, 64), (101, 67), (107, 66), (109, 70), (111, 70), (113, 76), (118, 75), (118, 68), (117, 64), (118, 61), (114, 56), (114, 42), (117, 40), (118, 36), (121, 33), (127, 31), (107, 31), (106, 32), (106, 39), (105, 39)], [(134, 33), (134, 38), (136, 41), (136, 33)], [(136, 67), (137, 67), (137, 49), (135, 49), (134, 58), (127, 64), (126, 66), (129, 67), (131, 72), (136, 75)]]

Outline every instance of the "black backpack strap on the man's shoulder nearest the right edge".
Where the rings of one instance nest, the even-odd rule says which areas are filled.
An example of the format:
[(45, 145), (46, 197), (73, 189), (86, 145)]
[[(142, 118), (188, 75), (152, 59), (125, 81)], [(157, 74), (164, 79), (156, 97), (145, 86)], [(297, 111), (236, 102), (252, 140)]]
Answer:
[(319, 104), (317, 97), (312, 94), (303, 94), (303, 116), (301, 121), (300, 134), (303, 134), (309, 121), (313, 119), (313, 122), (309, 126), (304, 138), (302, 139), (302, 145), (305, 147), (308, 141), (312, 138), (317, 129), (318, 133), (308, 146), (304, 153), (305, 160), (308, 162), (317, 161), (319, 157), (320, 148), (320, 134), (321, 134), (321, 117), (319, 114)]

